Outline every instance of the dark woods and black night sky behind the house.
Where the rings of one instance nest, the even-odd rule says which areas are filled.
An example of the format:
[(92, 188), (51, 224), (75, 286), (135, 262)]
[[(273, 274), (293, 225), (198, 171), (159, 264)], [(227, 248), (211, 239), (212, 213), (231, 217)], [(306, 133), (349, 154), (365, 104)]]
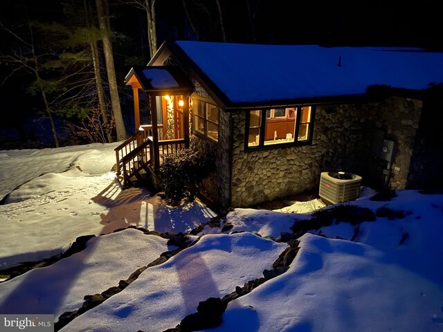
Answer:
[(166, 39), (443, 50), (435, 3), (3, 0), (0, 149), (121, 140), (134, 65)]

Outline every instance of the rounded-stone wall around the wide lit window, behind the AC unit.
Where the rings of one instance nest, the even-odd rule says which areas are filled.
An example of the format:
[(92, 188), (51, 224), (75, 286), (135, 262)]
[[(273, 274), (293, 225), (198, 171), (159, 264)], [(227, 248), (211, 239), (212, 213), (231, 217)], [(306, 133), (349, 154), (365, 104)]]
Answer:
[[(388, 98), (366, 104), (316, 107), (312, 145), (244, 152), (244, 112), (233, 115), (234, 207), (247, 207), (289, 194), (317, 190), (320, 173), (342, 169), (381, 187), (388, 162), (373, 153), (377, 132), (397, 143), (392, 189), (404, 189), (422, 102)], [(381, 151), (380, 151), (381, 152)]]

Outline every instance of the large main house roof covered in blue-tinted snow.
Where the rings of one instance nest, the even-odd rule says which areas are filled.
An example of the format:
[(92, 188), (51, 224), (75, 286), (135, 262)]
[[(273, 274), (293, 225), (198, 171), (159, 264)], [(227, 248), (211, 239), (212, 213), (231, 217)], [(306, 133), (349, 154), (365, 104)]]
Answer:
[(190, 41), (170, 46), (231, 105), (357, 96), (377, 85), (419, 91), (443, 82), (443, 53), (421, 49)]

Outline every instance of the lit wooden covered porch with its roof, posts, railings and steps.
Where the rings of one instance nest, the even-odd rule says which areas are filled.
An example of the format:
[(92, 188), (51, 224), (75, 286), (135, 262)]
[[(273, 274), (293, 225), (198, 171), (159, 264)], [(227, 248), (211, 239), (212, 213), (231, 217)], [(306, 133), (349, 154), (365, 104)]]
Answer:
[(116, 147), (123, 185), (157, 174), (163, 155), (189, 147), (192, 84), (179, 68), (133, 67), (125, 77), (134, 95), (136, 132)]

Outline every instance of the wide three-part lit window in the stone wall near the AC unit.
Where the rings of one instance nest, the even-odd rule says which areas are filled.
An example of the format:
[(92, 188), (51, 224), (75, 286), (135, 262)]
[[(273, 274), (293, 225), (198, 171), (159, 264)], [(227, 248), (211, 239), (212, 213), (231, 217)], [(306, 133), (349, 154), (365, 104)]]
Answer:
[(311, 142), (314, 107), (287, 107), (249, 111), (247, 148), (304, 145)]

